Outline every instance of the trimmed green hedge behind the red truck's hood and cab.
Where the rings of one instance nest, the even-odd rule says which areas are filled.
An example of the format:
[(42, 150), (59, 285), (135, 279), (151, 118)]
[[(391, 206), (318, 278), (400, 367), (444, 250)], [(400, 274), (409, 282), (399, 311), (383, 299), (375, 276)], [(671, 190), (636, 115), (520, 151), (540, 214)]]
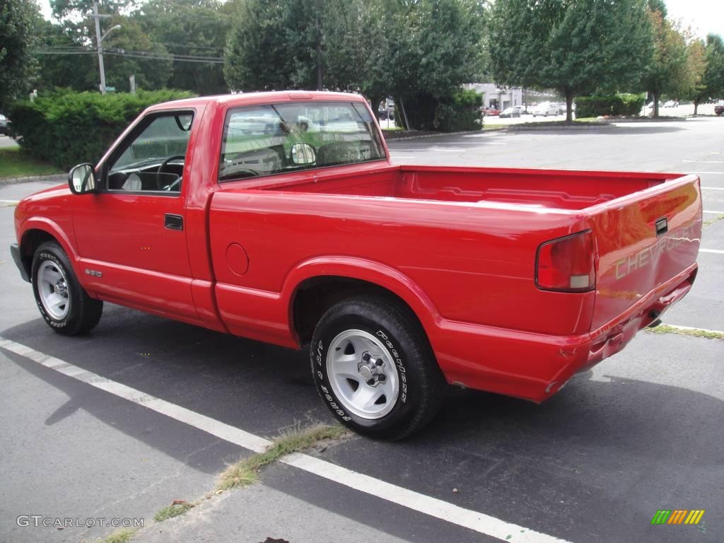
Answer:
[(140, 90), (136, 94), (104, 96), (57, 89), (35, 101), (16, 102), (9, 117), (23, 150), (69, 169), (80, 162), (95, 164), (146, 107), (190, 96), (193, 94), (183, 90)]

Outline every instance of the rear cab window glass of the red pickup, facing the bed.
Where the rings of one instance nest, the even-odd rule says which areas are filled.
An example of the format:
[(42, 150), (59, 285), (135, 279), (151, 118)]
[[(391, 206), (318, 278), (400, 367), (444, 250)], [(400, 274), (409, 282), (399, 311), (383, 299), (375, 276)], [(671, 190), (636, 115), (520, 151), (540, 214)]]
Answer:
[(219, 181), (386, 159), (364, 104), (285, 102), (230, 109)]

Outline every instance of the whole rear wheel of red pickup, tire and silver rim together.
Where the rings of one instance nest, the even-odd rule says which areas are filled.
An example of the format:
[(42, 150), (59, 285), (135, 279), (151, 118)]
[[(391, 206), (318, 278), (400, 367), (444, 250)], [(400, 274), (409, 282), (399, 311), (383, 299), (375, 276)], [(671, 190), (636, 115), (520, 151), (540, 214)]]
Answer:
[(371, 296), (324, 313), (311, 342), (317, 391), (345, 426), (379, 439), (402, 439), (439, 409), (445, 378), (408, 308)]

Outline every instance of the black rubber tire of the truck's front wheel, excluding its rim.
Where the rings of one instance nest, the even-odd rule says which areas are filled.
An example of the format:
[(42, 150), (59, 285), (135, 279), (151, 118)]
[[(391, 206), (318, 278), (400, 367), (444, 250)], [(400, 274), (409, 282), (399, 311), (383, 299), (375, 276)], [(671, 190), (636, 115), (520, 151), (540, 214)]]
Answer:
[[(53, 262), (56, 266), (62, 269), (65, 274), (66, 285), (68, 288), (68, 300), (70, 303), (70, 310), (64, 319), (54, 319), (43, 307), (41, 301), (40, 292), (38, 292), (38, 269), (41, 264), (46, 261)], [(41, 316), (48, 323), (50, 327), (61, 333), (73, 334), (75, 329), (80, 325), (80, 312), (81, 308), (81, 287), (75, 272), (73, 271), (70, 261), (68, 261), (62, 248), (56, 243), (43, 243), (35, 251), (33, 256), (33, 295), (35, 295), (35, 303), (38, 305), (38, 310), (41, 312)]]

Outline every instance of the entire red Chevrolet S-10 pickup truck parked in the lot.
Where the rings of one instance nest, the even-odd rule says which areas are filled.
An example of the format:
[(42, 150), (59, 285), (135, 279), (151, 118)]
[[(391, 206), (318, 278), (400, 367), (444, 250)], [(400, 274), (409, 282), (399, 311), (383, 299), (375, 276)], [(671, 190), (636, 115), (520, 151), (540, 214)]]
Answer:
[(689, 292), (695, 175), (391, 164), (360, 96), (153, 106), (68, 185), (25, 198), (12, 255), (56, 332), (104, 301), (290, 348), (384, 439), (448, 383), (542, 402)]

